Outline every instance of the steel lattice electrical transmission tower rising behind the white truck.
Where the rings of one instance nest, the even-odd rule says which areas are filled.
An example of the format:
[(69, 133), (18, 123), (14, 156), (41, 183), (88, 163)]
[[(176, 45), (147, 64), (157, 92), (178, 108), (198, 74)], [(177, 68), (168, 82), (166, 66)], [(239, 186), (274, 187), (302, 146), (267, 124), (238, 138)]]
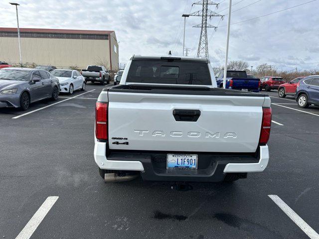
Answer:
[(197, 57), (208, 57), (207, 27), (214, 28), (215, 30), (217, 30), (217, 27), (207, 23), (207, 17), (209, 16), (209, 18), (211, 18), (212, 16), (219, 16), (223, 19), (224, 16), (208, 9), (209, 5), (216, 5), (216, 8), (218, 8), (218, 3), (211, 0), (196, 1), (192, 5), (202, 5), (201, 10), (189, 14), (190, 16), (201, 16), (201, 24), (193, 26), (201, 28)]

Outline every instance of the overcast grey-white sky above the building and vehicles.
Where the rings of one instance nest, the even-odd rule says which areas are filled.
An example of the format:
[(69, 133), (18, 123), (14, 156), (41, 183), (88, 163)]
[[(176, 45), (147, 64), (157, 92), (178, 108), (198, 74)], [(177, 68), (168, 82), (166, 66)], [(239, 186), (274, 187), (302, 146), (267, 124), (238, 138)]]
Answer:
[[(233, 0), (232, 23), (282, 10), (310, 0)], [(228, 13), (228, 0), (219, 8)], [(256, 2), (256, 3), (254, 3)], [(120, 41), (120, 62), (132, 54), (182, 54), (182, 13), (200, 9), (192, 0), (18, 0), (20, 27), (115, 30)], [(250, 6), (247, 6), (254, 3)], [(247, 7), (245, 7), (247, 6)], [(240, 9), (245, 7), (243, 9)], [(319, 0), (255, 20), (231, 25), (229, 60), (262, 63), (278, 69), (319, 68)], [(16, 27), (15, 9), (0, 0), (1, 27)], [(209, 20), (218, 30), (208, 28), (209, 58), (213, 67), (223, 65), (227, 16)], [(185, 47), (195, 56), (201, 17), (186, 21)], [(211, 37), (212, 36), (212, 37)]]

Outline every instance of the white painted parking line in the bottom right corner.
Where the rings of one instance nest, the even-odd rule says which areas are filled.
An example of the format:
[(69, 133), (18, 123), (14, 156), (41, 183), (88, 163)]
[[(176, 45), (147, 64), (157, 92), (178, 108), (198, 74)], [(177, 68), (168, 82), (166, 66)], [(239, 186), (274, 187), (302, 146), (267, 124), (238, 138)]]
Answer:
[(280, 209), (283, 210), (284, 213), (286, 213), (287, 216), (293, 220), (293, 222), (296, 223), (297, 226), (303, 230), (308, 237), (311, 239), (319, 239), (319, 234), (312, 229), (301, 217), (299, 217), (298, 214), (295, 213), (295, 211), (292, 210), (280, 197), (277, 195), (268, 195), (268, 197), (270, 197), (271, 200), (273, 200), (274, 203), (276, 203), (277, 206), (280, 207)]

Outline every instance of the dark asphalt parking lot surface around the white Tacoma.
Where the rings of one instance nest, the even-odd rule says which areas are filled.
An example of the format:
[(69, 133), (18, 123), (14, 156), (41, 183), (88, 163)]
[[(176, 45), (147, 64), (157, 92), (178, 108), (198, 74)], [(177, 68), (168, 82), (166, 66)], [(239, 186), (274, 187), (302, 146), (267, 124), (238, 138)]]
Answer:
[(0, 109), (1, 238), (26, 238), (21, 231), (41, 218), (35, 213), (48, 197), (54, 198), (31, 239), (310, 238), (305, 230), (313, 232), (300, 229), (268, 195), (319, 232), (319, 107), (300, 109), (293, 98), (270, 92), (267, 169), (233, 184), (191, 183), (193, 190), (176, 191), (141, 179), (104, 183), (93, 158), (102, 89), (88, 84), (85, 92), (27, 112)]

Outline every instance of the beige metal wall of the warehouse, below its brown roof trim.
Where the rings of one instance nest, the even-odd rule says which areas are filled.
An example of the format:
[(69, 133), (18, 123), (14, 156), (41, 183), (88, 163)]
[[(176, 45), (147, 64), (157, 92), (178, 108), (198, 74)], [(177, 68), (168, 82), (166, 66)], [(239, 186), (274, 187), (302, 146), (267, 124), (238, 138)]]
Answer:
[[(87, 65), (104, 64), (110, 69), (109, 40), (26, 37), (20, 39), (23, 64), (27, 62), (58, 68), (76, 66), (81, 69)], [(0, 37), (0, 60), (9, 63), (19, 62), (17, 37)], [(118, 65), (118, 57), (114, 54), (112, 65), (113, 61)]]

